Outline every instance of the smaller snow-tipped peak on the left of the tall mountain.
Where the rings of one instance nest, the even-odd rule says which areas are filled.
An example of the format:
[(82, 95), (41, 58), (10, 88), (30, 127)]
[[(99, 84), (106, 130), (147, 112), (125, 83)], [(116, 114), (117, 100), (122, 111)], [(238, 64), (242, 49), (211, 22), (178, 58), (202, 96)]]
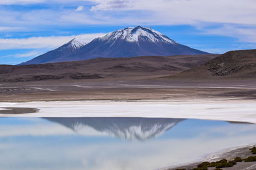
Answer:
[(59, 48), (52, 50), (50, 52), (39, 55), (38, 57), (35, 57), (34, 59), (29, 60), (27, 62), (22, 62), (20, 65), (44, 64), (52, 62), (52, 60), (56, 60), (61, 57), (64, 57), (65, 55), (69, 55), (70, 53), (76, 52), (84, 45), (86, 45), (86, 43), (84, 43), (83, 39), (74, 38), (65, 45), (62, 45)]

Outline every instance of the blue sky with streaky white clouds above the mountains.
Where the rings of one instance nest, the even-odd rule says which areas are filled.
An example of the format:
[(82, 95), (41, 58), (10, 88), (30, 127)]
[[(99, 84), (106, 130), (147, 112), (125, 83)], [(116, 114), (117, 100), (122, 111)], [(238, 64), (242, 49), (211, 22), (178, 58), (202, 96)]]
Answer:
[(136, 25), (211, 53), (255, 48), (255, 6), (255, 0), (1, 0), (0, 64)]

